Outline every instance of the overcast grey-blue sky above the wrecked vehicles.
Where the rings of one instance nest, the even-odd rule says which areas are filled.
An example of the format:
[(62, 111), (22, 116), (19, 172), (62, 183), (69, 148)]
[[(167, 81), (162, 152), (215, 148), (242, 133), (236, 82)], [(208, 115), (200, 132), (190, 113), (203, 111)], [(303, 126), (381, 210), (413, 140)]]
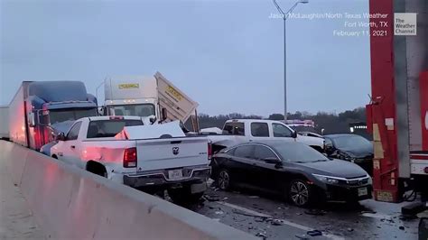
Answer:
[[(107, 76), (160, 71), (202, 113), (284, 111), (283, 22), (270, 0), (0, 3), (0, 105), (23, 80), (81, 80), (95, 95)], [(368, 1), (310, 0), (294, 13), (363, 14)], [(289, 112), (368, 103), (369, 39), (335, 36), (347, 21), (368, 22), (287, 20)]]

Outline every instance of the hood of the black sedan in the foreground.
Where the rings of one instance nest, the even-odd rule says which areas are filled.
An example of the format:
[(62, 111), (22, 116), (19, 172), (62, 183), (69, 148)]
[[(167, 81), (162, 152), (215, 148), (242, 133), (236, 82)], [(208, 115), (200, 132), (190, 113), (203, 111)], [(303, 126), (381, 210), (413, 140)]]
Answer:
[(309, 173), (332, 177), (352, 179), (368, 175), (368, 173), (357, 164), (338, 159), (325, 162), (308, 162), (298, 164)]

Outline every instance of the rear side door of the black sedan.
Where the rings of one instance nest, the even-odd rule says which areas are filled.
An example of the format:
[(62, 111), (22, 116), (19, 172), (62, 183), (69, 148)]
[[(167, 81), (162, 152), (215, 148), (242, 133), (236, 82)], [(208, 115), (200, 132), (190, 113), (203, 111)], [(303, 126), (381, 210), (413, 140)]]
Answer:
[(228, 171), (234, 183), (251, 184), (248, 173), (252, 168), (254, 146), (252, 144), (239, 145), (233, 151), (231, 161), (228, 161)]

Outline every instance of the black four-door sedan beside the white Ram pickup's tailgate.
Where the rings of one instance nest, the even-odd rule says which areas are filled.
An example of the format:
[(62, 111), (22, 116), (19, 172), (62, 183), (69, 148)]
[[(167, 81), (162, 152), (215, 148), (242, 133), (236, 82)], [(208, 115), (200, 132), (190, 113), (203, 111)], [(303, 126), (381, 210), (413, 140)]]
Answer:
[(372, 180), (358, 165), (331, 160), (303, 143), (244, 143), (213, 156), (220, 189), (244, 187), (279, 193), (297, 206), (371, 198)]

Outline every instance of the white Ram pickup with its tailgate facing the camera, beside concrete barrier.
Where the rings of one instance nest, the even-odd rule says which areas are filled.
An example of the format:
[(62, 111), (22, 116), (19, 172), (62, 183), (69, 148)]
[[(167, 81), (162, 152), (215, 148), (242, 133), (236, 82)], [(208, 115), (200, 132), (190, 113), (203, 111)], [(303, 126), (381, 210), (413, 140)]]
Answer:
[(168, 189), (176, 202), (196, 200), (207, 189), (209, 140), (186, 137), (178, 122), (144, 125), (138, 116), (84, 117), (57, 140), (51, 157), (135, 189)]

